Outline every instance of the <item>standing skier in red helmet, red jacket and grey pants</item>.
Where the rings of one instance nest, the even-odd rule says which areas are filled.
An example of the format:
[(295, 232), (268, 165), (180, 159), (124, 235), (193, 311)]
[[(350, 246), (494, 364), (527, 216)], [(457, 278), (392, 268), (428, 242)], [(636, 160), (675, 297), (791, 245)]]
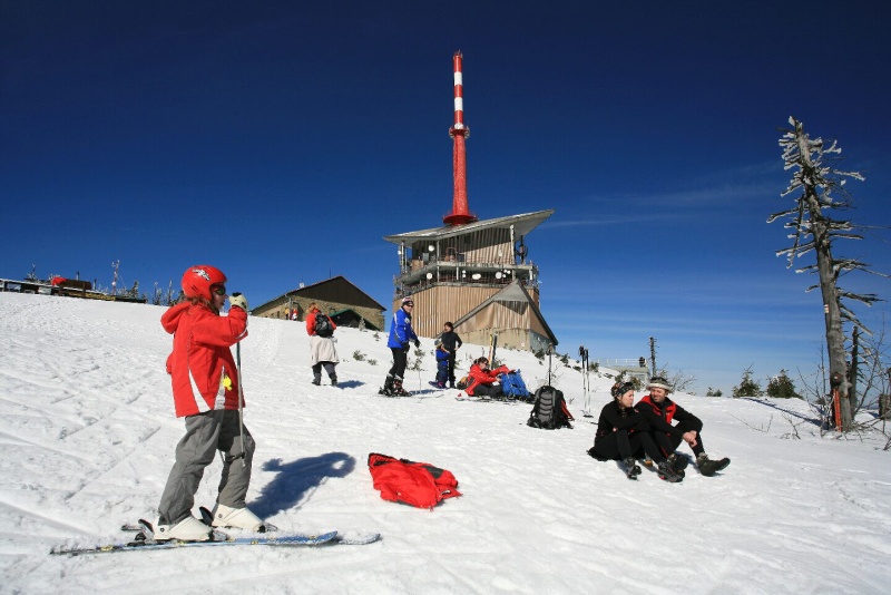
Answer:
[(193, 517), (192, 507), (204, 469), (217, 450), (223, 453), (223, 478), (212, 525), (249, 530), (264, 526), (245, 505), (255, 445), (239, 423), (239, 401), (244, 407), (244, 398), (229, 350), (247, 336), (247, 300), (234, 293), (228, 315), (221, 316), (225, 283), (226, 275), (219, 269), (192, 266), (183, 275), (186, 300), (160, 319), (164, 330), (174, 335), (167, 373), (176, 417), (184, 418), (186, 435), (176, 446), (176, 461), (158, 505), (158, 540), (209, 539), (212, 527)]

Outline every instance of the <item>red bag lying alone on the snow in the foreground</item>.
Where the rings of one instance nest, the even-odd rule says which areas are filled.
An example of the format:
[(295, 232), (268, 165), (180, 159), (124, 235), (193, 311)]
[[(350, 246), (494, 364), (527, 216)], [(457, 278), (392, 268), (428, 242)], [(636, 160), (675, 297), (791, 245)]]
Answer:
[(369, 470), (381, 498), (432, 509), (441, 500), (460, 496), (451, 471), (429, 462), (414, 462), (386, 455), (369, 455)]

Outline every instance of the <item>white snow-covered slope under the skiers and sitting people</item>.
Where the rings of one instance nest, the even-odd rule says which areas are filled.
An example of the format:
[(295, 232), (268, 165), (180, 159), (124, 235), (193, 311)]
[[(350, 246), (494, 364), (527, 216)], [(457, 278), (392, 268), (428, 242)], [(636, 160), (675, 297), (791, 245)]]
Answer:
[[(339, 330), (341, 386), (314, 387), (303, 324), (253, 318), (242, 348), (258, 445), (248, 505), (284, 531), (383, 539), (50, 556), (121, 540), (121, 523), (157, 514), (183, 432), (161, 312), (0, 294), (0, 592), (887, 593), (891, 452), (881, 435), (821, 438), (801, 401), (682, 394), (705, 421), (708, 451), (733, 464), (712, 478), (692, 466), (677, 485), (646, 469), (629, 481), (586, 455), (596, 417), (581, 414), (580, 373), (557, 360), (555, 384), (577, 422), (537, 430), (527, 404), (432, 390), (431, 340), (425, 371), (408, 374), (415, 394), (388, 399), (376, 394), (390, 365), (384, 333)], [(482, 349), (464, 345), (461, 369)], [(500, 357), (530, 388), (547, 378), (530, 354)], [(591, 384), (596, 414), (611, 380), (593, 374)], [(384, 501), (370, 452), (450, 469), (463, 497), (432, 511)], [(198, 504), (213, 505), (219, 469), (208, 468)]]

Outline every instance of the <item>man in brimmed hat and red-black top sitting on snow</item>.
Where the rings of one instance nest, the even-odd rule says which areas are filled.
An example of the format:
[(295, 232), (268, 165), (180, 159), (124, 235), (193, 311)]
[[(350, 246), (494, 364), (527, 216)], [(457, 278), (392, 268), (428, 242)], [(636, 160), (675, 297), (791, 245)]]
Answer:
[[(668, 393), (672, 392), (668, 381), (660, 375), (653, 377), (647, 384), (647, 390), (649, 390), (649, 394), (640, 399), (635, 407), (647, 418), (653, 438), (668, 458), (672, 468), (683, 471), (687, 466), (687, 458), (675, 452), (681, 442), (686, 442), (696, 456), (696, 467), (699, 468), (702, 475), (713, 476), (717, 471), (726, 469), (731, 459), (713, 460), (708, 458), (703, 446), (703, 422), (668, 398)], [(677, 420), (678, 423), (672, 425), (674, 420)]]

